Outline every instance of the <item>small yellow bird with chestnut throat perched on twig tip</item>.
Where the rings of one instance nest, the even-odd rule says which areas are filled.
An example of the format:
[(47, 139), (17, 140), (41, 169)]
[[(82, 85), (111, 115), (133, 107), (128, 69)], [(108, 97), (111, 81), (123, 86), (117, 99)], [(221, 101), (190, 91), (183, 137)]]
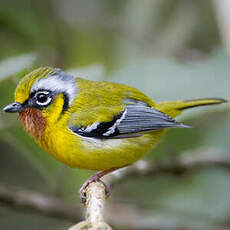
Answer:
[(174, 120), (183, 110), (223, 102), (210, 98), (155, 103), (126, 85), (42, 67), (19, 82), (15, 102), (3, 111), (18, 112), (25, 130), (64, 164), (102, 170), (83, 184), (83, 196), (90, 182), (148, 153), (167, 128), (190, 127)]

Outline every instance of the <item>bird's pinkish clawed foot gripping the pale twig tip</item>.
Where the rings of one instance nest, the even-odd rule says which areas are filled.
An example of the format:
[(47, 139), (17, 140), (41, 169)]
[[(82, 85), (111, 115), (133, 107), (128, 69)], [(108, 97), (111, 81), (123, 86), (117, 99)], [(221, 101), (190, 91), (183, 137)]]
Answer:
[(110, 186), (109, 184), (106, 184), (104, 181), (102, 181), (100, 178), (98, 178), (96, 175), (92, 176), (88, 180), (86, 180), (83, 185), (81, 186), (79, 190), (80, 198), (82, 203), (86, 202), (86, 188), (89, 186), (92, 182), (101, 182), (105, 187), (105, 197), (108, 198), (110, 195)]

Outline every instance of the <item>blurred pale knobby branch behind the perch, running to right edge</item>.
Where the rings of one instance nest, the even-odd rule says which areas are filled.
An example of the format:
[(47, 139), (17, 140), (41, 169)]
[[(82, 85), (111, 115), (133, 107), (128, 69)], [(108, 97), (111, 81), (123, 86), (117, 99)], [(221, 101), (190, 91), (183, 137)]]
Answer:
[(131, 167), (120, 169), (114, 173), (105, 176), (106, 182), (111, 185), (121, 183), (128, 177), (155, 177), (169, 174), (182, 176), (185, 173), (211, 168), (221, 167), (230, 170), (230, 157), (218, 149), (197, 150), (182, 154), (174, 161), (155, 164), (146, 160), (140, 160)]

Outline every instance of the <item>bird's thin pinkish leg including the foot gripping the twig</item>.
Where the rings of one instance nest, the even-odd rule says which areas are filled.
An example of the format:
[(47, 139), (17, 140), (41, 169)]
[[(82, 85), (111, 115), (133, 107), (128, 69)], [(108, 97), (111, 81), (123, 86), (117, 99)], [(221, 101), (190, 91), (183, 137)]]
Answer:
[(109, 197), (110, 195), (110, 186), (109, 184), (106, 184), (105, 182), (103, 182), (101, 180), (101, 178), (105, 175), (107, 175), (108, 173), (114, 172), (117, 169), (120, 169), (120, 167), (114, 167), (111, 169), (107, 169), (107, 170), (103, 170), (103, 171), (99, 171), (96, 174), (94, 174), (93, 176), (91, 176), (89, 179), (87, 179), (84, 184), (81, 186), (79, 193), (80, 193), (80, 198), (82, 200), (82, 202), (85, 201), (86, 199), (86, 195), (85, 195), (85, 189), (87, 188), (87, 186), (92, 183), (92, 182), (96, 182), (96, 181), (100, 181), (104, 186), (105, 186), (105, 194), (106, 194), (106, 198)]

